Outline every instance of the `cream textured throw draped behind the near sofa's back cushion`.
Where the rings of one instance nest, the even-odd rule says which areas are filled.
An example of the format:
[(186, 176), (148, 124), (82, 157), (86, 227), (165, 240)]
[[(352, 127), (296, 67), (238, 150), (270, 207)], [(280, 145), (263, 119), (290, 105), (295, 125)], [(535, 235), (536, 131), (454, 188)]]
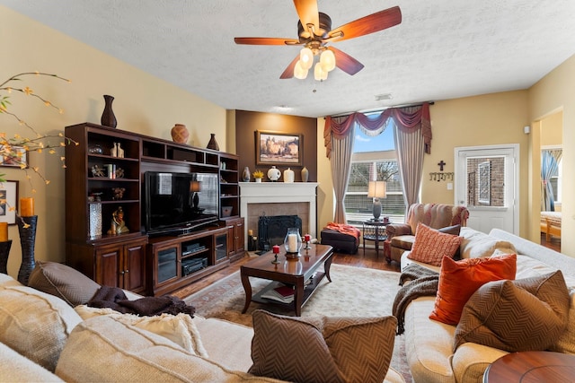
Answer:
[(137, 326), (151, 333), (164, 336), (164, 338), (170, 339), (174, 344), (180, 345), (181, 348), (190, 353), (208, 357), (208, 353), (206, 353), (204, 346), (201, 344), (201, 337), (196, 324), (188, 314), (162, 314), (154, 317), (138, 317), (134, 314), (121, 314), (113, 309), (97, 309), (86, 305), (76, 306), (75, 312), (84, 320), (101, 315), (112, 316), (123, 324)]

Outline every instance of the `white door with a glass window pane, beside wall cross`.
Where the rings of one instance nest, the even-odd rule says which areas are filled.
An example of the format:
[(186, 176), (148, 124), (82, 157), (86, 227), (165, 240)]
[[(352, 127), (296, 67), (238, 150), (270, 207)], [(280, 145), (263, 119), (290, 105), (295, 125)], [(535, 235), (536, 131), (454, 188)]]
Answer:
[(456, 205), (467, 206), (468, 227), (518, 234), (518, 161), (518, 144), (456, 148)]

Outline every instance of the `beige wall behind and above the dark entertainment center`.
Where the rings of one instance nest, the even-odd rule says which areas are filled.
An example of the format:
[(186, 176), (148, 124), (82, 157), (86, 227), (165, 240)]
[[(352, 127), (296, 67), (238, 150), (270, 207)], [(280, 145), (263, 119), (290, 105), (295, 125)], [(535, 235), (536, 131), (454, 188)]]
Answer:
[[(113, 109), (119, 129), (171, 140), (170, 129), (175, 123), (182, 123), (190, 129), (190, 144), (193, 141), (197, 146), (205, 147), (209, 134), (215, 133), (222, 150), (230, 146), (226, 145), (226, 109), (4, 6), (0, 6), (0, 36), (3, 38), (0, 82), (13, 74), (29, 71), (59, 74), (72, 80), (72, 83), (64, 83), (33, 76), (20, 83), (65, 109), (63, 115), (20, 93), (10, 95), (13, 103), (10, 110), (40, 133), (63, 132), (64, 126), (85, 121), (99, 124), (102, 95), (111, 94), (115, 97)], [(29, 133), (9, 116), (0, 115), (0, 121), (3, 132)], [(230, 150), (233, 149), (234, 145), (231, 145)], [(31, 166), (40, 167), (51, 180), (50, 185), (45, 186), (40, 178), (31, 176), (32, 185), (37, 189), (34, 198), (39, 215), (36, 258), (64, 261), (64, 170), (57, 157), (49, 157), (47, 153), (32, 153)], [(32, 186), (26, 181), (23, 170), (2, 168), (0, 172), (6, 174), (6, 179), (20, 181), (20, 196), (31, 196)], [(16, 276), (22, 259), (17, 228), (11, 226), (8, 235), (13, 239), (8, 273)]]

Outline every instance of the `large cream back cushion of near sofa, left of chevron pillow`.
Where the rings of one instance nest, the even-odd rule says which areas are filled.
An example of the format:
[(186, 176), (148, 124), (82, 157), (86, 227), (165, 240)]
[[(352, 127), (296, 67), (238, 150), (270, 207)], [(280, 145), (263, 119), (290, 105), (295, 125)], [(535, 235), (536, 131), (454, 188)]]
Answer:
[(111, 316), (90, 318), (75, 327), (56, 374), (76, 382), (277, 382), (228, 370)]

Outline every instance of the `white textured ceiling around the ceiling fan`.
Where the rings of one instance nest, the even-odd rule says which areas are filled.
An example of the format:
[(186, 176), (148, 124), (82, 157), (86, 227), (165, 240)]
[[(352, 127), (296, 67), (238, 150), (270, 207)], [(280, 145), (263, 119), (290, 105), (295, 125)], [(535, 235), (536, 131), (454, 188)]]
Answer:
[[(403, 22), (333, 43), (365, 68), (280, 80), (298, 46), (289, 0), (0, 0), (16, 12), (226, 109), (322, 117), (526, 89), (575, 53), (573, 0), (318, 0), (332, 27), (399, 5)], [(392, 100), (376, 100), (391, 93)], [(288, 107), (279, 109), (279, 107)]]

